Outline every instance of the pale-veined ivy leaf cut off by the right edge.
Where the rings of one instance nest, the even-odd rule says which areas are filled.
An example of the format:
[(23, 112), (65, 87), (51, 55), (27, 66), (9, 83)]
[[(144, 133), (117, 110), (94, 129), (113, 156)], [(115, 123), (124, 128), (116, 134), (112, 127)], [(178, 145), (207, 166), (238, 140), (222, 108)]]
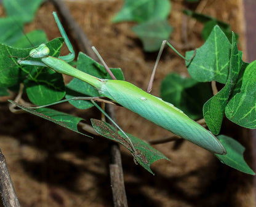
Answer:
[(246, 67), (241, 92), (226, 106), (225, 114), (232, 122), (246, 128), (256, 128), (256, 61)]

